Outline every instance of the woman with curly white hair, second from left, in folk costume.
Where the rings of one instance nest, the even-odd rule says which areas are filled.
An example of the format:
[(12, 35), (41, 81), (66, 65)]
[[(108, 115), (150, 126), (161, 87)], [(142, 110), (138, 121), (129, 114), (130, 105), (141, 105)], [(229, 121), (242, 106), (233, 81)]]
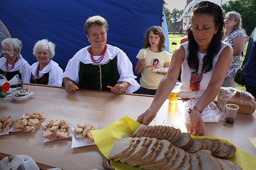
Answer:
[(55, 54), (55, 44), (48, 40), (37, 41), (33, 55), (37, 62), (31, 65), (30, 83), (40, 85), (62, 85), (63, 70), (59, 64), (52, 61)]

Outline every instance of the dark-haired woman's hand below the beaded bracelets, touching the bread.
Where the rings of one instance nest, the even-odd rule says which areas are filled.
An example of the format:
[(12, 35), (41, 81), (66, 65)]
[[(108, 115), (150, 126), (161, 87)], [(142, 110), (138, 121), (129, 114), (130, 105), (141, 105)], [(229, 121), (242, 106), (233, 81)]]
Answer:
[(193, 135), (204, 136), (205, 125), (200, 112), (196, 109), (193, 109), (189, 114), (189, 118), (191, 122), (191, 128), (189, 133), (190, 134), (194, 133)]

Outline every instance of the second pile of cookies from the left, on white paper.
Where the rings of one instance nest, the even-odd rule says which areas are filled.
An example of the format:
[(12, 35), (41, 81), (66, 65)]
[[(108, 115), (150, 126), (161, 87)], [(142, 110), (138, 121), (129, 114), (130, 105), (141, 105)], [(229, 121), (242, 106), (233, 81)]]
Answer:
[(22, 131), (26, 130), (29, 132), (36, 128), (36, 125), (39, 123), (39, 120), (44, 116), (41, 113), (26, 113), (25, 116), (15, 120), (14, 130)]

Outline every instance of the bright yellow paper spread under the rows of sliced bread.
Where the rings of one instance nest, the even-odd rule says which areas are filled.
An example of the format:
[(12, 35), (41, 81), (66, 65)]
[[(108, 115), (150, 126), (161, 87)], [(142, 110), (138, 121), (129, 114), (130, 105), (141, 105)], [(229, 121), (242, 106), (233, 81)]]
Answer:
[[(130, 134), (132, 135), (133, 132), (140, 126), (141, 124), (132, 118), (125, 116), (122, 119), (117, 120), (116, 122), (112, 123), (108, 127), (101, 129), (101, 130), (91, 130), (92, 136), (96, 145), (98, 146), (100, 152), (109, 159), (109, 153), (111, 151), (112, 145), (114, 141), (117, 139), (121, 139), (124, 135)], [(192, 136), (194, 138), (205, 138), (199, 136)], [(225, 139), (217, 138), (217, 137), (207, 137), (210, 139), (219, 139), (226, 144), (232, 144)], [(234, 144), (232, 144), (234, 145)], [(228, 159), (232, 162), (241, 166), (244, 170), (249, 169), (256, 169), (256, 157), (248, 154), (241, 149), (236, 147), (236, 154), (234, 157)], [(139, 166), (131, 167), (127, 164), (123, 164), (120, 161), (114, 162), (112, 159), (111, 166), (113, 166), (116, 170), (126, 170), (126, 169), (140, 169)]]

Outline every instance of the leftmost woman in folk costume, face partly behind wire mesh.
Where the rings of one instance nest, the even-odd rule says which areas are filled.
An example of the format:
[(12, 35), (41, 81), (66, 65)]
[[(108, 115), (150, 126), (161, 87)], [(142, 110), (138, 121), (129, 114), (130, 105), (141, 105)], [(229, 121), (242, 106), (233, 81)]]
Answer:
[[(20, 54), (22, 43), (17, 38), (12, 38), (11, 41), (13, 44), (13, 55), (3, 53), (4, 57), (0, 58), (0, 74), (4, 74), (8, 81), (18, 74), (23, 83), (29, 83), (30, 65)], [(10, 46), (9, 43), (10, 38), (1, 42), (3, 50), (7, 50), (5, 48)]]

